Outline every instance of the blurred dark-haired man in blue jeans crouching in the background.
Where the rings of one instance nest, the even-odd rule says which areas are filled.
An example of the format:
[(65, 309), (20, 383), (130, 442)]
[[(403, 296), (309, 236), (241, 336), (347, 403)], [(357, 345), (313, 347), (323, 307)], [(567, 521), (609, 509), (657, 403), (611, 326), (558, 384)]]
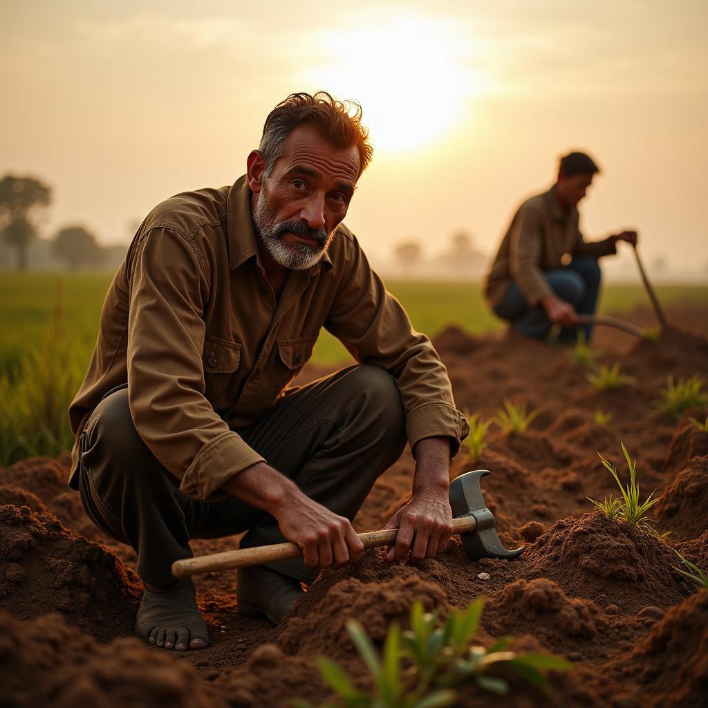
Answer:
[[(600, 168), (583, 152), (561, 158), (558, 179), (547, 192), (518, 208), (486, 277), (493, 312), (527, 337), (575, 340), (578, 314), (592, 315), (600, 292), (598, 258), (617, 252), (617, 241), (636, 244), (635, 231), (586, 241), (578, 227), (578, 203)], [(592, 327), (583, 326), (590, 341)]]

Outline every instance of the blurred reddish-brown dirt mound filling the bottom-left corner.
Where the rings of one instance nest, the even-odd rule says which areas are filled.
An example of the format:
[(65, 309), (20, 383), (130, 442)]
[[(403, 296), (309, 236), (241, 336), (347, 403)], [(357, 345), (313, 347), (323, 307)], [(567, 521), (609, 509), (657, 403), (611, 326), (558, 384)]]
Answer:
[(96, 644), (57, 614), (22, 622), (0, 612), (0, 667), (3, 706), (226, 706), (191, 666), (137, 639)]

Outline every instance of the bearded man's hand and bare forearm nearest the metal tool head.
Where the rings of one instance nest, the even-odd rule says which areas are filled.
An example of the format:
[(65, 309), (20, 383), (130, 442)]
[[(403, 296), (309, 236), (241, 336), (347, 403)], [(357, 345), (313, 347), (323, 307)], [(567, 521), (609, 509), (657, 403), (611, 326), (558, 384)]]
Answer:
[(385, 528), (399, 528), (386, 560), (402, 561), (411, 552), (411, 564), (445, 550), (452, 534), (450, 509), (450, 440), (426, 438), (416, 445), (413, 498), (397, 511)]

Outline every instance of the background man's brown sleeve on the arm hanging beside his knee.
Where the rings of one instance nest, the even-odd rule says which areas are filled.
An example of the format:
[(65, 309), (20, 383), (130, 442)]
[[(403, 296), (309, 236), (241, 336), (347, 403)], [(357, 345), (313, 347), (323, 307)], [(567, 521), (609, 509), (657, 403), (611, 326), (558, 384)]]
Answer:
[(509, 245), (509, 273), (516, 281), (529, 307), (537, 307), (551, 286), (540, 268), (542, 214), (523, 205), (514, 217)]

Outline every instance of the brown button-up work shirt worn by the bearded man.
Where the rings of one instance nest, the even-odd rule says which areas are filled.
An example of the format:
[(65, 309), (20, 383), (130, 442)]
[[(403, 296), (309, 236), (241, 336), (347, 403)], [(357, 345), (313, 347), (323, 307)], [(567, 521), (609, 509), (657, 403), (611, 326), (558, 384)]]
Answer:
[[(263, 457), (239, 428), (263, 416), (310, 358), (324, 326), (355, 360), (396, 379), (411, 447), (437, 435), (453, 454), (469, 430), (430, 340), (370, 268), (343, 224), (328, 253), (291, 270), (276, 301), (258, 255), (246, 178), (178, 194), (145, 219), (115, 274), (74, 433), (127, 384), (135, 428), (185, 495), (207, 500)], [(77, 446), (72, 452), (76, 486)]]

